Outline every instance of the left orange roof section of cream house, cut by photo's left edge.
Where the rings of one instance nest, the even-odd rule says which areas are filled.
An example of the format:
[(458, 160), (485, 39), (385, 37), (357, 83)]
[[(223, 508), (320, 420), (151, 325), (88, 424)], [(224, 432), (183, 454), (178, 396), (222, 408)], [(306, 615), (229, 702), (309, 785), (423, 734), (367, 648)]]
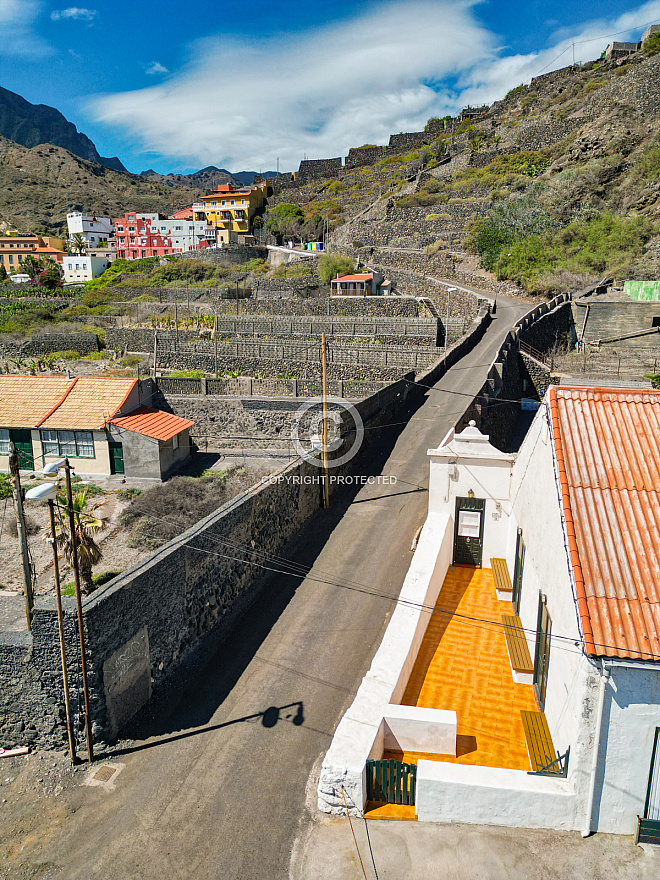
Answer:
[(0, 376), (0, 427), (36, 428), (71, 382), (66, 376)]

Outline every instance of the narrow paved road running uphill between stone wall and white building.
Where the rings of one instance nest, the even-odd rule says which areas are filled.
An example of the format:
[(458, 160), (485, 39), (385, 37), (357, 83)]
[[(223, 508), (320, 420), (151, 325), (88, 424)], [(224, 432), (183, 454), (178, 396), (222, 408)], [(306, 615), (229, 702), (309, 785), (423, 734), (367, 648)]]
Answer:
[(380, 642), (425, 518), (426, 451), (527, 308), (498, 299), (482, 342), (363, 463), (397, 484), (347, 491), (312, 519), (293, 554), (309, 575), (273, 576), (196, 688), (117, 756), (115, 790), (77, 789), (75, 812), (32, 865), (66, 880), (288, 877), (310, 774)]

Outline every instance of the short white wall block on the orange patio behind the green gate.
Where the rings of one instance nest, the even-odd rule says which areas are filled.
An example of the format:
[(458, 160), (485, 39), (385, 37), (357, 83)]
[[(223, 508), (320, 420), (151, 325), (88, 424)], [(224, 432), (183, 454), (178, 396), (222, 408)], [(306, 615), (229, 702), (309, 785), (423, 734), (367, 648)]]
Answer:
[(386, 749), (456, 754), (456, 712), (422, 706), (388, 706), (383, 718)]

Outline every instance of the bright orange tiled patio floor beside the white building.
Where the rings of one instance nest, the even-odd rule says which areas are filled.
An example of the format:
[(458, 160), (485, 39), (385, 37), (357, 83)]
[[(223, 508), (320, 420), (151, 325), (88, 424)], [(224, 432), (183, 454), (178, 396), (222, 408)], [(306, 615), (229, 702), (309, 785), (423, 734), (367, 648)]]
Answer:
[(513, 681), (501, 626), (501, 615), (511, 613), (511, 603), (497, 599), (489, 568), (449, 569), (401, 702), (454, 709), (458, 755), (383, 757), (531, 769), (520, 710), (538, 706), (532, 686)]

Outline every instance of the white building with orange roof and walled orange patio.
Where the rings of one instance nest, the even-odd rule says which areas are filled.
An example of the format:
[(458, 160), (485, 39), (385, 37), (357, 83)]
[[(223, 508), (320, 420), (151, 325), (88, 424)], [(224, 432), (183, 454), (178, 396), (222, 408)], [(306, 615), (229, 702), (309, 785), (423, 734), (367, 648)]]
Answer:
[(428, 517), (321, 809), (382, 801), (396, 759), (410, 818), (658, 842), (659, 425), (658, 392), (553, 386), (517, 455), (474, 423), (429, 450)]

